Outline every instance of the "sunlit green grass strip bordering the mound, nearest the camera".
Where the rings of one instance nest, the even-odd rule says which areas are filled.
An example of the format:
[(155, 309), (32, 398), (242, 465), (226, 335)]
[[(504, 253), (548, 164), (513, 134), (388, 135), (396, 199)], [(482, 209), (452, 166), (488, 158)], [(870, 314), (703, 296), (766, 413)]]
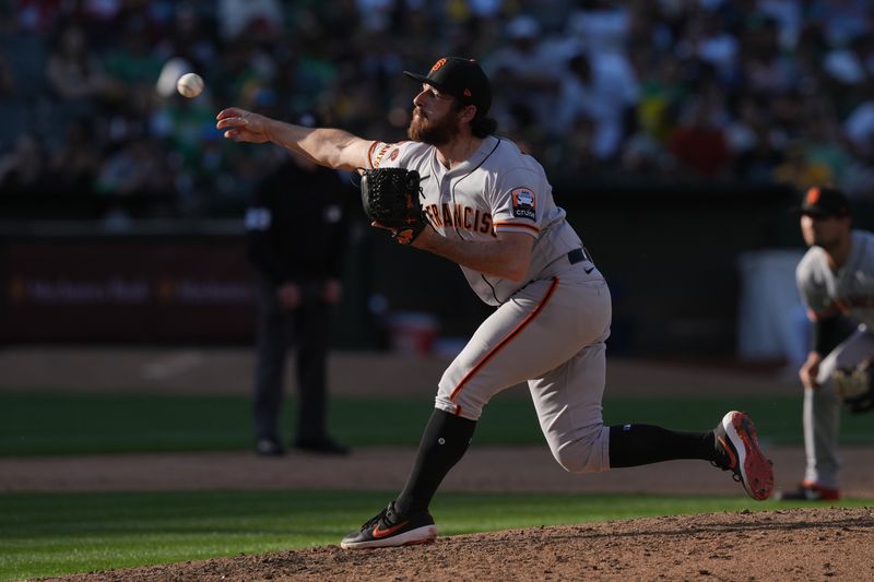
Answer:
[[(4, 494), (0, 580), (336, 544), (388, 499), (353, 491)], [(740, 496), (446, 492), (432, 510), (441, 535), (453, 535), (778, 506)]]

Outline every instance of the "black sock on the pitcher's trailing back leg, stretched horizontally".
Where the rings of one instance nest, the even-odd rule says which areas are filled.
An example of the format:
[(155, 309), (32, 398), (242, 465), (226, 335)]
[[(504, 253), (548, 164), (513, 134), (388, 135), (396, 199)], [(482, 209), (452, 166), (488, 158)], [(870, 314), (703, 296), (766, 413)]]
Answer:
[(673, 459), (716, 456), (713, 431), (680, 432), (652, 425), (610, 427), (610, 466), (633, 467)]

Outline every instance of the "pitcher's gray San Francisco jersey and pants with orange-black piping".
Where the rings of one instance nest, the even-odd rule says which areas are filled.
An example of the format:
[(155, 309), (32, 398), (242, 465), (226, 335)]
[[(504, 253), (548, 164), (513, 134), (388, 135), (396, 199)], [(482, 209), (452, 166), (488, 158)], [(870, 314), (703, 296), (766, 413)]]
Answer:
[(535, 239), (521, 282), (461, 266), (476, 295), (497, 309), (444, 373), (436, 407), (476, 420), (492, 396), (528, 382), (556, 461), (574, 472), (606, 471), (601, 400), (612, 307), (604, 277), (555, 204), (543, 168), (516, 144), (485, 138), (451, 169), (436, 152), (412, 141), (374, 142), (369, 162), (418, 171), (422, 205), (441, 236), (485, 241), (513, 231)]

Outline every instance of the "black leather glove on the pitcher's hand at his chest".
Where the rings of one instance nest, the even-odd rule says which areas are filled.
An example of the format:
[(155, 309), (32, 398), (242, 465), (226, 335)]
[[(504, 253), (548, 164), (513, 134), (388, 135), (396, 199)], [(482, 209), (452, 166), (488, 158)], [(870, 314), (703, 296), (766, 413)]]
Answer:
[(388, 228), (392, 238), (409, 245), (427, 225), (422, 210), (416, 170), (377, 168), (362, 170), (362, 204), (370, 221)]

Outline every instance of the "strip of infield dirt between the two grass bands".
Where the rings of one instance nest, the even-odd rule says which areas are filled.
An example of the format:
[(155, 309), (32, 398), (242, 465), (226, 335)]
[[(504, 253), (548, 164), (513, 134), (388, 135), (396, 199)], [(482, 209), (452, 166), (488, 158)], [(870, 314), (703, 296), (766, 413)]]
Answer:
[[(791, 488), (801, 477), (800, 448), (768, 448), (777, 486)], [(350, 483), (370, 490), (398, 490), (413, 464), (412, 448), (365, 448), (349, 458), (290, 453), (261, 459), (248, 452), (145, 453), (0, 459), (0, 491), (109, 491), (203, 489), (342, 490)], [(842, 451), (846, 497), (871, 498), (874, 464), (870, 449)], [(574, 475), (542, 447), (471, 447), (447, 476), (441, 490), (513, 492), (616, 492), (739, 495), (728, 473), (700, 461)]]

